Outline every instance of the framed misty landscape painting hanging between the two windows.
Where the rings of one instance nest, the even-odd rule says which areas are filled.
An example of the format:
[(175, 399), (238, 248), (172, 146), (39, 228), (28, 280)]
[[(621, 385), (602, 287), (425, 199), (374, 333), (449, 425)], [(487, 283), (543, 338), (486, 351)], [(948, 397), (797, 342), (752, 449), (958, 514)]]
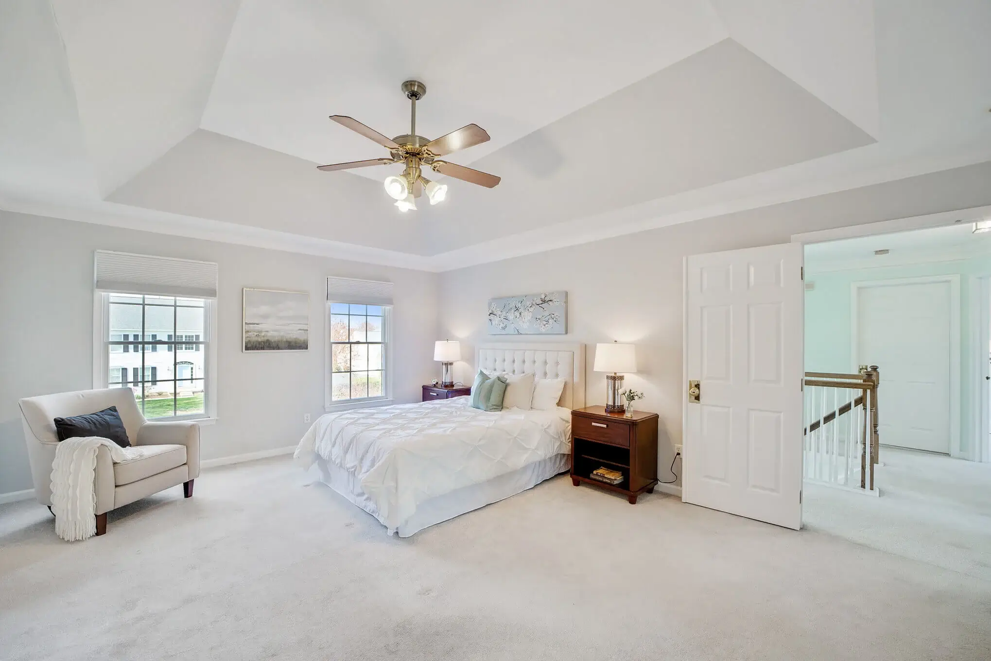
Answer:
[(244, 290), (244, 351), (309, 350), (309, 292)]

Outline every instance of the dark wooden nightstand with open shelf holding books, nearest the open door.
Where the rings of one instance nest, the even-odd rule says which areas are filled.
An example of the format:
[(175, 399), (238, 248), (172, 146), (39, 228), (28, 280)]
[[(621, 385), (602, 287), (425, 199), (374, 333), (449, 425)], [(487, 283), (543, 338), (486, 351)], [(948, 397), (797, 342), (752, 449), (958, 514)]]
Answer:
[[(587, 406), (571, 412), (571, 483), (583, 482), (625, 494), (636, 504), (640, 494), (654, 493), (657, 484), (657, 413), (633, 411), (633, 417), (606, 413), (605, 406)], [(619, 471), (618, 485), (593, 480), (598, 468)]]

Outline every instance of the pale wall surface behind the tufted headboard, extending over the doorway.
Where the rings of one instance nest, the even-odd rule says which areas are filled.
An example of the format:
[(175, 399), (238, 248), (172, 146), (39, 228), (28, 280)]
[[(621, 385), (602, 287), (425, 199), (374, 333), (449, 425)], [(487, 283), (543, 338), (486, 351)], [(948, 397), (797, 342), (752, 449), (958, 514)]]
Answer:
[[(682, 439), (682, 263), (687, 255), (790, 241), (792, 234), (905, 218), (991, 202), (991, 164), (822, 195), (710, 220), (441, 274), (441, 337), (463, 343), (455, 377), (471, 383), (475, 346), (491, 341), (486, 308), (493, 296), (568, 291), (568, 335), (509, 340), (589, 345), (587, 401), (606, 400), (605, 376), (592, 371), (597, 342), (632, 342), (638, 373), (625, 386), (643, 390), (637, 408), (660, 415), (660, 479)], [(502, 336), (500, 339), (506, 339)], [(675, 470), (681, 473), (680, 465)], [(679, 483), (680, 484), (680, 481)]]

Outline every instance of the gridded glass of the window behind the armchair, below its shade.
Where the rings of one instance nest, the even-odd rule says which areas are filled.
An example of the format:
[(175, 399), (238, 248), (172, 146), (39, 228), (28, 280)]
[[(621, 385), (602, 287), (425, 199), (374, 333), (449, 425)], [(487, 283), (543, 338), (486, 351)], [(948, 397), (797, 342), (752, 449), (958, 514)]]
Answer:
[[(213, 301), (101, 292), (107, 386), (130, 386), (145, 417), (206, 417)], [(125, 332), (127, 331), (127, 332)], [(169, 341), (185, 356), (178, 360)]]

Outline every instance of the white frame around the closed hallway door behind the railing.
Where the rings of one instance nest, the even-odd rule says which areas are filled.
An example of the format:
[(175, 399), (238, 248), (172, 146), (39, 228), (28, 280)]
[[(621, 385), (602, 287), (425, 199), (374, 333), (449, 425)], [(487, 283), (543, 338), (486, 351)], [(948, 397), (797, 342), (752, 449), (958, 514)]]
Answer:
[[(857, 310), (860, 290), (876, 286), (898, 286), (900, 284), (949, 283), (949, 456), (969, 459), (960, 450), (960, 276), (923, 275), (919, 277), (894, 277), (889, 279), (858, 280), (850, 282), (850, 368), (855, 374), (859, 369), (857, 361), (858, 340)], [(884, 371), (881, 372), (884, 384)], [(879, 397), (881, 401), (881, 397)], [(881, 415), (884, 413), (882, 412)], [(986, 418), (985, 418), (986, 419)]]

